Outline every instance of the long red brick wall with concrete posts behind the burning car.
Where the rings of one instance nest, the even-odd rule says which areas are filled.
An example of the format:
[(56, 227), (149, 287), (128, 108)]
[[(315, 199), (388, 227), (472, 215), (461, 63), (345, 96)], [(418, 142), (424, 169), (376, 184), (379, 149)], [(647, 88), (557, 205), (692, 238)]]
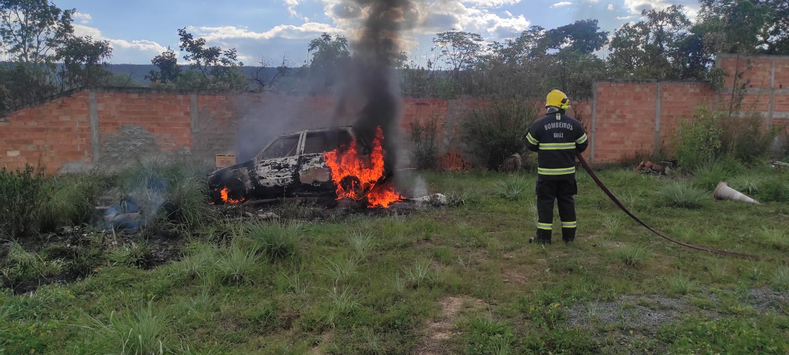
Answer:
[[(596, 102), (571, 98), (570, 114), (581, 120), (590, 136), (585, 157), (592, 163), (619, 163), (652, 155), (656, 148), (671, 151), (679, 120), (691, 118), (697, 105), (727, 107), (738, 68), (748, 83), (743, 109), (762, 114), (765, 125), (771, 117), (773, 125), (789, 124), (789, 57), (740, 58), (738, 62), (733, 56), (722, 56), (718, 65), (731, 75), (717, 92), (707, 83), (660, 83), (659, 131), (657, 83), (598, 82)], [(404, 98), (401, 136), (394, 139), (408, 147), (412, 144), (410, 122), (438, 118), (443, 125), (438, 137), (441, 164), (469, 166), (473, 157), (467, 152), (473, 148), (464, 137), (463, 125), (471, 110), (489, 100)], [(90, 95), (72, 92), (0, 118), (0, 164), (11, 169), (25, 163), (46, 165), (47, 172), (54, 173), (123, 161), (148, 151), (189, 153), (207, 163), (215, 154), (237, 153), (239, 159), (248, 159), (279, 133), (352, 124), (356, 119), (353, 104), (328, 96), (97, 89), (99, 159), (94, 159)], [(541, 99), (533, 104), (542, 110)], [(147, 140), (128, 142), (124, 136), (128, 128)]]

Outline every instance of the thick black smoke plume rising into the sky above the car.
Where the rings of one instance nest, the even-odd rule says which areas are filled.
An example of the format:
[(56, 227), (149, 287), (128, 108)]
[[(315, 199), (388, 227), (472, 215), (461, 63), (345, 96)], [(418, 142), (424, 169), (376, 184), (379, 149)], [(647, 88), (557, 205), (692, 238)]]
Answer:
[[(372, 142), (377, 127), (383, 131), (384, 166), (387, 178), (398, 166), (401, 98), (394, 75), (394, 55), (399, 52), (400, 32), (418, 18), (411, 0), (347, 0), (361, 8), (361, 30), (351, 41), (353, 60), (341, 89), (338, 107), (357, 110), (354, 130)], [(343, 114), (338, 110), (337, 115)]]

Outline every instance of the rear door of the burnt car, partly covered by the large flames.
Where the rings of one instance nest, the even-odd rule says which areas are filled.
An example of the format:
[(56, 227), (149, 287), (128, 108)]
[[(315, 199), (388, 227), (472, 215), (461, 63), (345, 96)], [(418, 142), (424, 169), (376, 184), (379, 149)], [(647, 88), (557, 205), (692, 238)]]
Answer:
[(328, 151), (350, 144), (353, 136), (346, 128), (308, 131), (304, 137), (304, 151), (299, 157), (298, 191), (306, 196), (328, 194), (335, 191), (331, 169), (323, 158)]

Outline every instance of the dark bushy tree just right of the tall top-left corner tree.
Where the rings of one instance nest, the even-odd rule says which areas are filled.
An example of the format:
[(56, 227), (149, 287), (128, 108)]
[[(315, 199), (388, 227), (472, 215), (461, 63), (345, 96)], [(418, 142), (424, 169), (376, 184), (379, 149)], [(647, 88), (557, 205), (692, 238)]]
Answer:
[(69, 36), (57, 48), (54, 58), (63, 62), (58, 75), (64, 88), (79, 88), (106, 84), (112, 73), (104, 68), (111, 56), (109, 41), (94, 41), (90, 36)]

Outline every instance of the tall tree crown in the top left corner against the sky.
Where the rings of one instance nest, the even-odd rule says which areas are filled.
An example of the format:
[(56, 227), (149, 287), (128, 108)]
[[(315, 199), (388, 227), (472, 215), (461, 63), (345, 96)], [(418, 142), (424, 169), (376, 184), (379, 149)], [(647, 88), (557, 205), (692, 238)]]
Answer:
[(47, 0), (0, 0), (0, 48), (18, 62), (49, 62), (73, 36), (74, 12)]

